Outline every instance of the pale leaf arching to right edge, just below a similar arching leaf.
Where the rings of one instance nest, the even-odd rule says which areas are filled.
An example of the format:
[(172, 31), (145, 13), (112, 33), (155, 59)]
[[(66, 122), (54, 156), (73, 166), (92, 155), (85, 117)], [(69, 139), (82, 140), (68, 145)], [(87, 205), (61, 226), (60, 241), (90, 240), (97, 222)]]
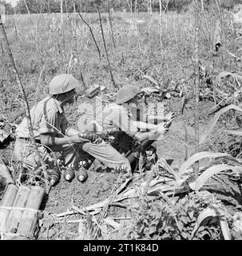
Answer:
[(196, 179), (195, 187), (191, 188), (198, 191), (202, 186), (204, 186), (205, 182), (207, 182), (208, 178), (211, 178), (212, 175), (218, 174), (221, 171), (224, 170), (233, 170), (236, 172), (242, 172), (242, 167), (239, 166), (228, 166), (225, 164), (216, 165), (208, 168), (208, 170), (205, 170), (204, 173), (200, 174), (200, 176)]

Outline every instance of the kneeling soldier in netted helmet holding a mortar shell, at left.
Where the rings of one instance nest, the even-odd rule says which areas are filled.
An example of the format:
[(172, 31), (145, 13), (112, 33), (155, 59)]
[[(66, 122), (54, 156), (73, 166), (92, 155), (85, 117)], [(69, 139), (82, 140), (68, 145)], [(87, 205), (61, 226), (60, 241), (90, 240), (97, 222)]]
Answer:
[(72, 105), (77, 97), (77, 79), (69, 74), (59, 74), (52, 79), (49, 85), (49, 94), (30, 110), (34, 129), (34, 138), (30, 138), (27, 119), (24, 118), (16, 130), (16, 143), (14, 154), (16, 160), (27, 165), (39, 164), (34, 153), (32, 139), (37, 142), (38, 150), (44, 161), (51, 151), (61, 153), (61, 161), (67, 168), (77, 169), (79, 162), (86, 159), (97, 158), (110, 169), (125, 166), (131, 170), (129, 161), (106, 142), (95, 143), (80, 138), (80, 131), (69, 126), (65, 118), (63, 107)]

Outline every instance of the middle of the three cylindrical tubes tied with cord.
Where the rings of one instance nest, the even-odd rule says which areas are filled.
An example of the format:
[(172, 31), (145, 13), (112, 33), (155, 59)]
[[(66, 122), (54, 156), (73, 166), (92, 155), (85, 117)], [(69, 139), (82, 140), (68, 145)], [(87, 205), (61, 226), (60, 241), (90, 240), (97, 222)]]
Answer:
[[(28, 186), (20, 186), (18, 193), (14, 200), (13, 207), (24, 208), (30, 195), (30, 188)], [(12, 209), (10, 216), (6, 221), (6, 232), (16, 233), (18, 229), (18, 223), (22, 217), (22, 210)]]

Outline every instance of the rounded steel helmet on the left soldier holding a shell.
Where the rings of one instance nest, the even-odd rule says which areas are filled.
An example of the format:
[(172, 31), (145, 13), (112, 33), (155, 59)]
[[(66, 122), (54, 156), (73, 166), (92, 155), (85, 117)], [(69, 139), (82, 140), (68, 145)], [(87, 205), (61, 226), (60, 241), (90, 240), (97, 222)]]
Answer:
[(79, 82), (71, 74), (58, 74), (50, 81), (49, 94), (64, 94), (78, 85)]

